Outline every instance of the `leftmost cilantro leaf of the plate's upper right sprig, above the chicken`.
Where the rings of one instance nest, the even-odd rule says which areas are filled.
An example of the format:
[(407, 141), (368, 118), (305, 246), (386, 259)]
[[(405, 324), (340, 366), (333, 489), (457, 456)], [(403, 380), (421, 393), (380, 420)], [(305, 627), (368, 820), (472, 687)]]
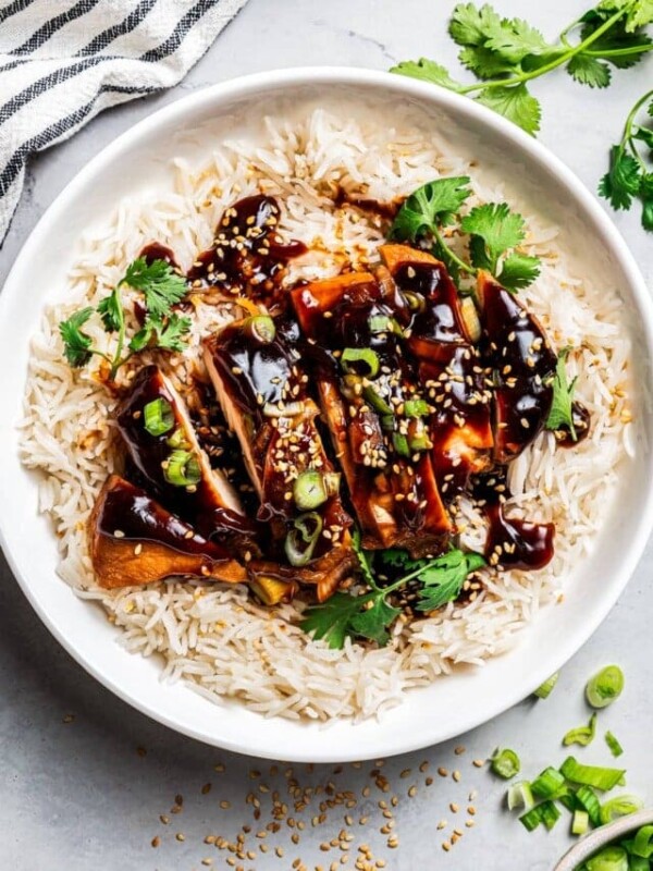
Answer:
[(415, 242), (428, 233), (435, 234), (438, 225), (446, 225), (465, 203), (471, 191), (467, 175), (438, 179), (418, 187), (397, 212), (390, 229), (392, 238)]

